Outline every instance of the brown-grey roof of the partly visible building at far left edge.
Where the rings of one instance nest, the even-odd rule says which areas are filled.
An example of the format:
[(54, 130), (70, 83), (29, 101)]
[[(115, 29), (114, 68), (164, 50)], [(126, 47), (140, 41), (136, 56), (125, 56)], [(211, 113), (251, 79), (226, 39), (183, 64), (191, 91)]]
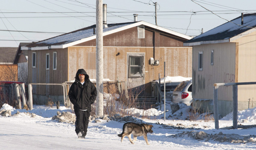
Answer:
[(0, 63), (13, 63), (18, 47), (0, 47)]

